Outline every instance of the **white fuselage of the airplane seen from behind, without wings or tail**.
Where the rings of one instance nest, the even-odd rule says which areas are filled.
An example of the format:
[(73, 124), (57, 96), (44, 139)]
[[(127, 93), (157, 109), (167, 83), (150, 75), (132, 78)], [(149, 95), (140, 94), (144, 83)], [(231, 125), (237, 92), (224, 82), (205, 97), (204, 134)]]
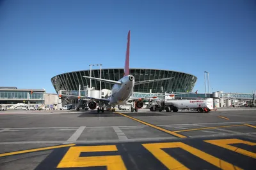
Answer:
[(113, 85), (111, 89), (109, 105), (124, 105), (132, 96), (134, 87), (134, 76), (127, 75), (118, 81), (122, 82), (122, 85)]

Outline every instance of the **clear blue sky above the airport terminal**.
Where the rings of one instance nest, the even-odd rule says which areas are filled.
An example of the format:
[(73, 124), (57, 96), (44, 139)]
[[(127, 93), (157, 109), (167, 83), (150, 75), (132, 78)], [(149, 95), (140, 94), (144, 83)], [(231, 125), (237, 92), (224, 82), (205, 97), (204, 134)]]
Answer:
[[(0, 86), (55, 92), (56, 74), (130, 67), (195, 75), (194, 91), (256, 90), (256, 1), (0, 1)], [(95, 67), (96, 68), (96, 67)]]

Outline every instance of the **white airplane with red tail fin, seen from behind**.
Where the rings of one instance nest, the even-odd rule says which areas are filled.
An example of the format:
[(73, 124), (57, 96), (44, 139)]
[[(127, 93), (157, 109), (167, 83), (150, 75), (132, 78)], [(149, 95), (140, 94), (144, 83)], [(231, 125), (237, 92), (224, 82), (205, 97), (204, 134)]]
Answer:
[[(112, 89), (111, 89), (111, 96), (109, 96), (108, 99), (105, 98), (95, 98), (95, 97), (84, 97), (87, 99), (91, 99), (91, 101), (88, 103), (88, 107), (90, 110), (95, 110), (97, 107), (97, 103), (99, 103), (99, 108), (97, 109), (98, 113), (100, 111), (104, 112), (104, 108), (106, 106), (113, 107), (113, 111), (115, 111), (115, 106), (116, 105), (124, 105), (127, 104), (127, 102), (136, 102), (135, 108), (131, 105), (131, 111), (138, 111), (138, 108), (143, 107), (143, 101), (141, 101), (141, 97), (131, 97), (134, 89), (134, 85), (138, 84), (143, 84), (143, 83), (151, 83), (154, 81), (163, 81), (163, 80), (170, 80), (171, 78), (161, 78), (161, 79), (155, 79), (155, 80), (145, 80), (145, 81), (134, 81), (134, 76), (132, 76), (129, 73), (129, 50), (130, 50), (130, 34), (131, 31), (128, 32), (127, 36), (127, 49), (126, 49), (126, 56), (125, 56), (125, 67), (124, 67), (124, 76), (118, 81), (115, 80), (107, 80), (103, 78), (95, 78), (91, 76), (83, 76), (84, 78), (90, 78), (92, 80), (98, 80), (98, 81), (103, 81), (107, 83), (112, 83), (114, 84)], [(168, 95), (162, 95), (162, 96), (170, 96)], [(146, 98), (151, 98), (151, 97), (156, 97), (156, 96), (149, 96), (145, 97)], [(159, 96), (157, 96), (159, 97)]]

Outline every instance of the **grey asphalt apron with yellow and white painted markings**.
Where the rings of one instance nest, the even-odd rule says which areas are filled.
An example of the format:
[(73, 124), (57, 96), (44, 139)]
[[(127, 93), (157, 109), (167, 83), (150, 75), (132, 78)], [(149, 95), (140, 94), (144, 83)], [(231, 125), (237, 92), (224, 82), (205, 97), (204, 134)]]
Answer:
[(0, 112), (1, 170), (255, 169), (255, 159), (256, 110)]

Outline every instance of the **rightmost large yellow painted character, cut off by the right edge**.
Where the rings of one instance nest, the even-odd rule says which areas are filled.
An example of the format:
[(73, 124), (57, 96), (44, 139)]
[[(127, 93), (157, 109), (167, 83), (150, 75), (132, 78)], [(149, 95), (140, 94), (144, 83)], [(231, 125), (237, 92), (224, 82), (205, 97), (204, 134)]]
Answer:
[(250, 142), (250, 141), (244, 141), (241, 139), (216, 139), (216, 140), (206, 140), (205, 142), (207, 143), (211, 143), (212, 145), (217, 145), (220, 146), (222, 148), (226, 148), (228, 150), (232, 150), (234, 152), (237, 153), (241, 153), (243, 155), (246, 155), (248, 157), (252, 157), (256, 159), (256, 153), (247, 151), (247, 150), (243, 150), (241, 148), (238, 148), (236, 146), (231, 146), (228, 144), (237, 144), (237, 143), (243, 143), (246, 145), (250, 145), (250, 146), (256, 146), (256, 143)]

